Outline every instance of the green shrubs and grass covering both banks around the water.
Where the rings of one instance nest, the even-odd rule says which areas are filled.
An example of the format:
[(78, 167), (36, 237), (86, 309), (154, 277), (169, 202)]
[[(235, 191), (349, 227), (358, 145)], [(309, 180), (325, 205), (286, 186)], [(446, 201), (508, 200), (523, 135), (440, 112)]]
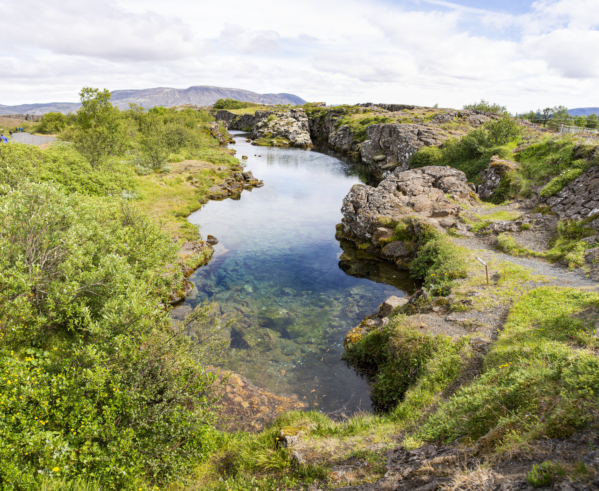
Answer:
[[(80, 96), (76, 115), (48, 113), (38, 123), (58, 134), (47, 149), (0, 146), (2, 491), (299, 491), (366, 483), (373, 484), (354, 489), (374, 491), (397, 486), (400, 474), (407, 490), (422, 491), (491, 489), (501, 479), (506, 489), (597, 482), (597, 291), (590, 280), (564, 287), (506, 259), (594, 267), (585, 261), (596, 213), (558, 222), (543, 200), (597, 165), (597, 146), (516, 124), (486, 101), (462, 116), (392, 104), (273, 107), (285, 116), (265, 125), (294, 112), (288, 126), (299, 128), (306, 115), (314, 138), (347, 131), (343, 148), (352, 155), (400, 116), (407, 118), (400, 124), (420, 126), (436, 118), (443, 138), (420, 135), (428, 144), (420, 140), (409, 167), (450, 165), (473, 185), (489, 187), (480, 173), (489, 176), (493, 158), (507, 163), (485, 201), (474, 194), (458, 207), (446, 195), (459, 208), (447, 230), (410, 216), (380, 222), (388, 229), (377, 236), (381, 246), (414, 249), (406, 266), (423, 288), (346, 343), (344, 360), (370, 382), (376, 412), (333, 419), (283, 411), (264, 430), (228, 433), (215, 429), (216, 394), (228, 379), (213, 368), (227, 341), (222, 326), (211, 305), (178, 323), (168, 305), (173, 295), (184, 298), (190, 268), (210, 258), (189, 213), (261, 185), (243, 172), (243, 156), (221, 146), (231, 135), (213, 110), (253, 118), (265, 107), (220, 100), (207, 108), (133, 104), (121, 111), (108, 91), (84, 88)], [(377, 152), (369, 157), (377, 172), (400, 165), (391, 151)], [(490, 237), (494, 225), (518, 221), (506, 207), (526, 200), (536, 200), (537, 215), (555, 218), (550, 249), (528, 249), (511, 228), (494, 245), (506, 256), (460, 242), (466, 228)], [(520, 222), (519, 231), (542, 232)], [(188, 242), (198, 248), (189, 249), (193, 264), (181, 265)], [(477, 254), (489, 264), (489, 284)], [(557, 456), (547, 442), (567, 450)], [(410, 456), (420, 464), (393, 467)]]

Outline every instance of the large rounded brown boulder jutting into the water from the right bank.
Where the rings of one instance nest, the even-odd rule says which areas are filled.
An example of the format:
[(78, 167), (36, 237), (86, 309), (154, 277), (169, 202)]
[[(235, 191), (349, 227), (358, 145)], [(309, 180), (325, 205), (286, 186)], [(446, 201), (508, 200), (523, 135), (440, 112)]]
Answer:
[(371, 242), (374, 236), (378, 242), (380, 236), (376, 233), (382, 231), (377, 229), (385, 220), (399, 221), (406, 215), (422, 218), (456, 215), (462, 209), (459, 203), (476, 198), (478, 195), (466, 175), (454, 168), (431, 165), (403, 171), (388, 176), (376, 188), (354, 185), (343, 198), (341, 232), (348, 239)]

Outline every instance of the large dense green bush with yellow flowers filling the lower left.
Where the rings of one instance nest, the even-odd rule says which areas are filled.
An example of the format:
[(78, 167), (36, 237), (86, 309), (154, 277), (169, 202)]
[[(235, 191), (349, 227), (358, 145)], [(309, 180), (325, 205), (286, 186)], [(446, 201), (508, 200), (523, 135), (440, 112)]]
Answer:
[(0, 197), (0, 250), (0, 483), (189, 472), (210, 450), (216, 379), (183, 333), (216, 327), (210, 306), (171, 326), (170, 237), (120, 200), (23, 183)]

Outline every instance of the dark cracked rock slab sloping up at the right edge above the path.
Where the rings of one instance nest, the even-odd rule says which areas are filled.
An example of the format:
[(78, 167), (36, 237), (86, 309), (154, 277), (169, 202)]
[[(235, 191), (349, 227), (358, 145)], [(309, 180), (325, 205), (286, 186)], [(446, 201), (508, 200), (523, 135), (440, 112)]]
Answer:
[[(555, 196), (547, 198), (547, 205), (562, 219), (583, 219), (599, 213), (599, 166), (588, 168)], [(599, 231), (599, 220), (592, 221), (591, 226)]]

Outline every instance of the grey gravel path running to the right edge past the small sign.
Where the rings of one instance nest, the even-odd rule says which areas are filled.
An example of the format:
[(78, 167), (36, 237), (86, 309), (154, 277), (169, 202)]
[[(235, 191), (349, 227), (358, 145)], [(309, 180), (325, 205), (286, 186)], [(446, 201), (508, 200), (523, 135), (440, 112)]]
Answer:
[(482, 251), (479, 257), (483, 260), (498, 260), (507, 261), (509, 263), (519, 264), (520, 266), (531, 268), (532, 273), (536, 275), (544, 275), (552, 279), (551, 285), (560, 285), (567, 287), (597, 287), (599, 283), (593, 281), (591, 278), (586, 278), (586, 273), (583, 270), (577, 269), (574, 271), (568, 271), (564, 267), (556, 266), (555, 264), (544, 263), (529, 258), (513, 257), (501, 252), (492, 251), (488, 248), (481, 240), (473, 238), (468, 239), (455, 239), (456, 243), (467, 247), (473, 251)]

